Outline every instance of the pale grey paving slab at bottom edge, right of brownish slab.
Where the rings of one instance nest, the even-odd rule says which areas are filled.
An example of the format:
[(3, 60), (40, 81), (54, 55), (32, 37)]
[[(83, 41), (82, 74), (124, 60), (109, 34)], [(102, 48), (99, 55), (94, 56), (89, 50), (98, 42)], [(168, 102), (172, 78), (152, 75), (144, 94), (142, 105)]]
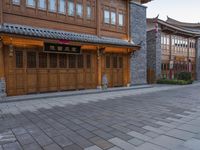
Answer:
[(135, 146), (119, 138), (110, 139), (109, 142), (113, 143), (114, 145), (124, 150), (135, 150)]

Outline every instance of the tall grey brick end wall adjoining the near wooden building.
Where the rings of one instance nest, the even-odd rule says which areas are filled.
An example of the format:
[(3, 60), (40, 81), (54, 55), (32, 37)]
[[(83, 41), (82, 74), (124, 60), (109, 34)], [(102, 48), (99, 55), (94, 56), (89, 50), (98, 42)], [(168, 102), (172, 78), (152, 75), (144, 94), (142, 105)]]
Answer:
[(130, 35), (135, 44), (141, 44), (131, 57), (131, 84), (146, 84), (146, 7), (134, 2), (130, 2)]

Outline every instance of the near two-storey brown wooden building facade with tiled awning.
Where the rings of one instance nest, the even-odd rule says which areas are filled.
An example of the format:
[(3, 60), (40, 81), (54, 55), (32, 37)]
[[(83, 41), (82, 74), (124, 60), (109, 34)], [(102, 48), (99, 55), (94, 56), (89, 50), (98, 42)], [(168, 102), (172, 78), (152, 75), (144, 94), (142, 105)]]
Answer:
[[(142, 4), (148, 0), (135, 0)], [(1, 0), (0, 78), (23, 95), (130, 84), (129, 0)]]

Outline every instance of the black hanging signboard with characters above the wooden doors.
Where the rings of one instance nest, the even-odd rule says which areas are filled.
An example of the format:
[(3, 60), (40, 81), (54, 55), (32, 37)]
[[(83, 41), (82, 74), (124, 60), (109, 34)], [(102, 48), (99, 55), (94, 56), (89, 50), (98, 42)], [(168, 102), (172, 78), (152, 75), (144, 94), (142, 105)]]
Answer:
[(44, 43), (44, 52), (80, 54), (81, 47), (55, 43)]

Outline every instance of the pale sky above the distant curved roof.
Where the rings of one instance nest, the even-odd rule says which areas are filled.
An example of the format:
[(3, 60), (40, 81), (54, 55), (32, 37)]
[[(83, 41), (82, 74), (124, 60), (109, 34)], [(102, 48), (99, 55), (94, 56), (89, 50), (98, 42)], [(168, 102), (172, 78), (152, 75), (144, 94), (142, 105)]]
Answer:
[(167, 16), (182, 22), (200, 23), (200, 0), (153, 0), (145, 4), (147, 17), (166, 20)]

